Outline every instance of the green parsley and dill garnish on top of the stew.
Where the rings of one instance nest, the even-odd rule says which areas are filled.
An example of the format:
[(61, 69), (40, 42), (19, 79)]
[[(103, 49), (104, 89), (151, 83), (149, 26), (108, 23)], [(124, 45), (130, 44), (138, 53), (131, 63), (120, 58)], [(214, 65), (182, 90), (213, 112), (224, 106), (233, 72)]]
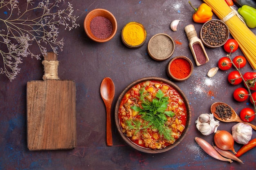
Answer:
[[(171, 129), (168, 128), (168, 126), (166, 125), (166, 115), (169, 117), (173, 117), (175, 113), (173, 113), (172, 111), (166, 111), (167, 105), (169, 103), (169, 98), (164, 96), (164, 93), (159, 90), (156, 94), (156, 97), (152, 100), (152, 102), (150, 102), (148, 101), (148, 99), (146, 99), (148, 93), (145, 92), (145, 88), (141, 88), (141, 90), (139, 91), (142, 108), (140, 108), (139, 106), (132, 106), (131, 108), (139, 112), (141, 118), (148, 122), (148, 126), (156, 128), (160, 135), (164, 135), (165, 139), (170, 140)], [(135, 121), (132, 121), (132, 123), (133, 125), (135, 125), (133, 126), (133, 128), (137, 128), (138, 131), (141, 129), (141, 126), (136, 126)]]

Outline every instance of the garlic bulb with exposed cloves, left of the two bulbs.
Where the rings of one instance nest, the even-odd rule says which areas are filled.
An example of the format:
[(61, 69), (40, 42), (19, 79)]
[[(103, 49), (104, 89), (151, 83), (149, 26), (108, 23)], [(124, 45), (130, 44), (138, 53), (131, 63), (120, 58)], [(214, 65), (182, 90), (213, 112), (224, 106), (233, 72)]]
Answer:
[(213, 114), (207, 114), (207, 113), (203, 113), (199, 115), (195, 123), (196, 123), (196, 128), (203, 135), (210, 135), (211, 133), (216, 132), (218, 126), (220, 126), (219, 121), (214, 120)]

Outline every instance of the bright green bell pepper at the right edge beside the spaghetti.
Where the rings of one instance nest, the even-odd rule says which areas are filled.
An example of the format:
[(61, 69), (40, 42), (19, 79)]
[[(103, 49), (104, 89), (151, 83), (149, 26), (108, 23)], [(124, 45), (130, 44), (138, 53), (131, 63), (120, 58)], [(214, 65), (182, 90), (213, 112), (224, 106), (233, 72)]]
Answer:
[(238, 10), (238, 13), (245, 19), (245, 23), (249, 28), (256, 27), (256, 9), (248, 5), (243, 5)]

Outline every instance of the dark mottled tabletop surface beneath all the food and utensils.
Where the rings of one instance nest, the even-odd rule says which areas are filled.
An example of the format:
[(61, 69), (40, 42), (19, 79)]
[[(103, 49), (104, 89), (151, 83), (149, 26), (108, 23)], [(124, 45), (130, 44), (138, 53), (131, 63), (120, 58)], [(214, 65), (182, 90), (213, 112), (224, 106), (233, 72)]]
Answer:
[[(76, 82), (77, 146), (72, 150), (27, 149), (26, 85), (30, 80), (42, 79), (43, 65), (42, 60), (23, 58), (23, 63), (19, 65), (20, 73), (12, 82), (6, 76), (0, 75), (1, 170), (255, 169), (255, 148), (240, 157), (245, 164), (235, 161), (228, 163), (207, 155), (194, 140), (195, 137), (202, 137), (212, 144), (213, 134), (202, 135), (195, 127), (195, 120), (201, 113), (210, 113), (210, 106), (214, 102), (226, 102), (237, 113), (252, 105), (248, 101), (238, 103), (233, 99), (234, 89), (243, 86), (233, 86), (227, 81), (227, 75), (233, 68), (229, 71), (218, 71), (212, 78), (207, 77), (208, 70), (216, 67), (218, 59), (227, 54), (222, 47), (206, 48), (210, 61), (202, 66), (195, 65), (184, 27), (193, 24), (199, 35), (202, 24), (193, 22), (194, 11), (187, 0), (69, 1), (73, 4), (74, 14), (79, 16), (77, 23), (80, 27), (68, 31), (60, 26), (58, 30), (58, 37), (65, 40), (64, 49), (58, 55), (58, 74), (61, 79), (73, 79)], [(203, 1), (192, 2), (198, 7)], [(20, 2), (21, 9), (25, 7), (22, 3)], [(117, 19), (117, 34), (109, 42), (93, 42), (85, 34), (83, 20), (95, 8), (107, 9)], [(213, 18), (217, 19), (216, 15)], [(173, 32), (170, 24), (175, 19), (183, 21), (178, 25), (177, 31)], [(130, 21), (140, 22), (148, 33), (146, 43), (139, 49), (128, 49), (121, 42), (121, 30)], [(256, 32), (255, 29), (252, 31)], [(175, 82), (189, 99), (192, 119), (189, 132), (177, 147), (168, 152), (151, 155), (131, 148), (121, 139), (114, 124), (113, 111), (121, 92), (135, 80), (144, 77), (169, 79), (166, 65), (172, 57), (159, 62), (151, 59), (147, 52), (149, 39), (157, 33), (166, 33), (175, 41), (172, 57), (184, 55), (193, 61), (194, 71), (191, 77), (184, 82)], [(235, 55), (243, 53), (238, 49), (233, 57)], [(253, 71), (249, 64), (243, 68), (243, 73), (246, 71)], [(101, 81), (105, 77), (110, 77), (116, 88), (112, 105), (113, 146), (106, 145), (106, 110), (99, 93)], [(236, 123), (220, 122), (218, 129), (231, 132), (234, 124)], [(252, 124), (256, 124), (256, 120)], [(256, 138), (255, 130), (252, 138)], [(234, 147), (237, 151), (241, 145), (235, 144)]]

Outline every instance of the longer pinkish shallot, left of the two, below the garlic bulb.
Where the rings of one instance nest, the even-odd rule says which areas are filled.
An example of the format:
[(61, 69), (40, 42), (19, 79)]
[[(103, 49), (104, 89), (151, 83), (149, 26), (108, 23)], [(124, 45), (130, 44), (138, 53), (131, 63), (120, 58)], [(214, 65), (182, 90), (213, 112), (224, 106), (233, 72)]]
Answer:
[(225, 157), (222, 157), (207, 141), (200, 137), (195, 137), (195, 141), (198, 143), (198, 145), (211, 157), (218, 159), (220, 161), (227, 161), (232, 163), (233, 161), (231, 159), (227, 159)]

